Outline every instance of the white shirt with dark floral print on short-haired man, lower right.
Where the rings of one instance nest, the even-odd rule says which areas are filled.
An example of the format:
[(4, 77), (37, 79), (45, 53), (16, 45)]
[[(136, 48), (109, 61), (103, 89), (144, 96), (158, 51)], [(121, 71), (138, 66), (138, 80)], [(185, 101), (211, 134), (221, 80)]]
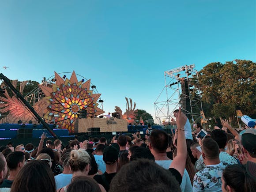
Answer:
[(205, 166), (195, 174), (193, 192), (221, 192), (221, 177), (227, 163)]

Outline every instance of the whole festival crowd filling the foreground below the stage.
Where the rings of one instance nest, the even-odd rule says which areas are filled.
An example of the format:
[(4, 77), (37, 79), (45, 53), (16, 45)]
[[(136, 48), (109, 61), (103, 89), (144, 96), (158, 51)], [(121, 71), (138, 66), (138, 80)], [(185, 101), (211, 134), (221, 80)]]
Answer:
[[(181, 109), (172, 134), (147, 131), (89, 140), (42, 134), (28, 143), (0, 147), (0, 192), (256, 192), (256, 128), (242, 134), (227, 120), (203, 138)], [(193, 134), (194, 133), (194, 134)]]

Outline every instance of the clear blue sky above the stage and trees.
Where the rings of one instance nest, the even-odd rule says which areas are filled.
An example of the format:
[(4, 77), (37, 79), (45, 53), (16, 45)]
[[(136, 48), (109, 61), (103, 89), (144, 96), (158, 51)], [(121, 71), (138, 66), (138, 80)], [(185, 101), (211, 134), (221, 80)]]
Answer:
[(0, 72), (75, 70), (106, 112), (128, 97), (154, 117), (165, 71), (234, 59), (256, 61), (255, 0), (0, 0)]

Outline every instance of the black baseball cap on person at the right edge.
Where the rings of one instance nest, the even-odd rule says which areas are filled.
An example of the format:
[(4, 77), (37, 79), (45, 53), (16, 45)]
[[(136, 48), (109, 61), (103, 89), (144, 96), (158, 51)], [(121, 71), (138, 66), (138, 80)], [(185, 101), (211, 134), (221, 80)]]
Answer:
[(244, 148), (252, 154), (256, 154), (256, 129), (247, 129), (242, 135)]

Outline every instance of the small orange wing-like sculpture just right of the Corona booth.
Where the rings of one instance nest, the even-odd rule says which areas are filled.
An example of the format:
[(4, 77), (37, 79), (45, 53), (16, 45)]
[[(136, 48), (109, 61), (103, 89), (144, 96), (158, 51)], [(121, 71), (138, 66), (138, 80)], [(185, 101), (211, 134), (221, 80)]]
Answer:
[(136, 113), (138, 112), (138, 109), (135, 110), (136, 103), (134, 102), (134, 106), (132, 108), (132, 99), (130, 98), (131, 107), (129, 107), (128, 98), (125, 98), (125, 99), (126, 99), (127, 108), (128, 108), (126, 109), (126, 112), (122, 114), (122, 110), (118, 106), (115, 106), (115, 111), (120, 114), (121, 119), (126, 119), (128, 123), (134, 124), (134, 120), (137, 117)]

